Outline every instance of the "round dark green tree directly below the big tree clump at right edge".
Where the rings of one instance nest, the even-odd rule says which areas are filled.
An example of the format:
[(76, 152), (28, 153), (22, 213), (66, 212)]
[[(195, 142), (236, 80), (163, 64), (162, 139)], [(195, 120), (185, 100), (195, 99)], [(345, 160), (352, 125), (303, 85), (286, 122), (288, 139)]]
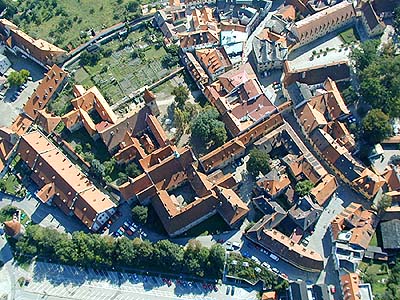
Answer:
[(380, 109), (372, 109), (362, 121), (363, 137), (369, 144), (380, 143), (392, 134), (389, 117)]

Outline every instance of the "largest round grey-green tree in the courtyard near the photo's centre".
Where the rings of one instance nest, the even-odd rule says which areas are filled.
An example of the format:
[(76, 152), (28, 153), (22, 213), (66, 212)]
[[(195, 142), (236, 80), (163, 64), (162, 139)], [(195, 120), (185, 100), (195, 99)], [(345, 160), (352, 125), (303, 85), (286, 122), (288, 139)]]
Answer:
[(213, 107), (203, 109), (191, 124), (192, 138), (217, 147), (224, 144), (228, 136), (225, 124), (218, 120), (218, 116), (218, 111)]

